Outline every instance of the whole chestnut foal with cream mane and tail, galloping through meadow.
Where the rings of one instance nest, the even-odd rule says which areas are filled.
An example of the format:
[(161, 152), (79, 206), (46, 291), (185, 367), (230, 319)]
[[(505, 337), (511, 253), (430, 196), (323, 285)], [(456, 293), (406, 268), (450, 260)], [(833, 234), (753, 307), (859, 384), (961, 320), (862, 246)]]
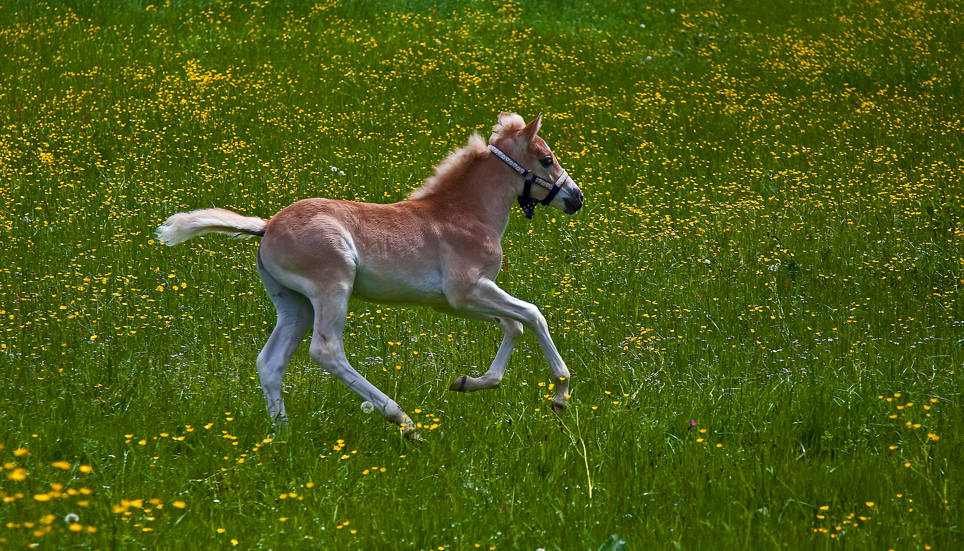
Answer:
[[(418, 437), (405, 411), (345, 357), (342, 332), (353, 295), (369, 302), (430, 306), (499, 325), (505, 336), (492, 367), (478, 378), (457, 378), (451, 390), (459, 392), (498, 386), (522, 328), (529, 328), (549, 360), (555, 382), (552, 410), (565, 409), (569, 370), (552, 343), (546, 318), (535, 305), (495, 285), (500, 241), (517, 197), (529, 217), (535, 202), (566, 214), (582, 206), (582, 192), (537, 136), (541, 120), (540, 115), (526, 125), (516, 114), (499, 114), (491, 145), (473, 134), (469, 144), (449, 154), (435, 175), (401, 202), (309, 198), (268, 221), (210, 208), (175, 214), (157, 229), (169, 246), (212, 231), (262, 236), (257, 272), (278, 311), (278, 323), (257, 356), (257, 372), (279, 430), (287, 425), (281, 379), (305, 333), (314, 328), (311, 357), (406, 436)], [(540, 187), (533, 189), (533, 183)]]

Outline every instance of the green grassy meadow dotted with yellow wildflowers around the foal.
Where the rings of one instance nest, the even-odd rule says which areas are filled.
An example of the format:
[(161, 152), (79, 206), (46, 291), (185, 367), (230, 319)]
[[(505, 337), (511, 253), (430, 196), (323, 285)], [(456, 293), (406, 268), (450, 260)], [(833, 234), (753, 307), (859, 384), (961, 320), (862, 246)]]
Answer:
[[(0, 548), (959, 549), (953, 2), (4, 2)], [(517, 211), (532, 335), (354, 302), (271, 438), (257, 241), (221, 206), (401, 200), (499, 111), (586, 195)], [(69, 516), (73, 513), (76, 516)], [(613, 546), (619, 548), (619, 545)]]

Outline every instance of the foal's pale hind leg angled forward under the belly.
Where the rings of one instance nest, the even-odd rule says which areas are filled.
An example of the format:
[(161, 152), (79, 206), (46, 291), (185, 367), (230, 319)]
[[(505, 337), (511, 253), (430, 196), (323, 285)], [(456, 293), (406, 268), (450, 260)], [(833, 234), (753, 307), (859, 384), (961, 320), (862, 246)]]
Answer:
[(402, 433), (409, 439), (418, 439), (415, 423), (412, 419), (388, 398), (384, 392), (368, 382), (355, 368), (348, 363), (345, 356), (343, 333), (345, 316), (348, 312), (348, 297), (351, 290), (342, 290), (335, 296), (313, 297), (314, 332), (311, 334), (311, 346), (308, 353), (326, 371), (331, 373), (348, 388), (351, 388), (363, 400), (370, 402), (383, 417), (398, 425)]

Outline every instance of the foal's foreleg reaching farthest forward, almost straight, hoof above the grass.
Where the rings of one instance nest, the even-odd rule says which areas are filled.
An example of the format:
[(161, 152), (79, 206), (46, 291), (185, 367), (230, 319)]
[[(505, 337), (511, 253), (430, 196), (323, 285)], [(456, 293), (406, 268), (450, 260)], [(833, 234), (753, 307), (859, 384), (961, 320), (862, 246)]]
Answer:
[[(543, 349), (543, 354), (546, 354), (546, 360), (549, 361), (549, 370), (552, 372), (552, 381), (555, 383), (552, 410), (562, 413), (569, 404), (569, 369), (566, 368), (562, 356), (555, 349), (552, 337), (549, 336), (549, 325), (539, 308), (535, 304), (520, 301), (500, 289), (495, 281), (484, 277), (478, 279), (460, 295), (456, 300), (459, 310), (516, 320), (535, 333), (536, 340), (539, 341), (539, 346)], [(499, 352), (502, 352), (502, 347), (499, 347)], [(508, 361), (508, 354), (506, 354), (506, 361)]]

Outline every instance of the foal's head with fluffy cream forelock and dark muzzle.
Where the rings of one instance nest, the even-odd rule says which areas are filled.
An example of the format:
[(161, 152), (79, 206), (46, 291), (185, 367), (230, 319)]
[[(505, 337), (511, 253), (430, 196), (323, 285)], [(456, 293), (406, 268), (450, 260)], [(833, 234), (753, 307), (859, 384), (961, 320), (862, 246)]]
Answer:
[[(542, 124), (542, 114), (525, 124), (522, 117), (515, 113), (499, 113), (498, 124), (493, 127), (493, 135), (489, 143), (505, 151), (526, 170), (534, 171), (539, 177), (554, 182), (562, 174), (562, 167), (559, 166), (559, 161), (552, 154), (546, 141), (538, 136), (540, 124)], [(521, 196), (522, 179), (519, 180), (518, 186), (517, 195)], [(549, 190), (538, 186), (533, 186), (530, 193), (533, 198), (539, 200), (549, 196)], [(576, 186), (576, 182), (573, 178), (567, 177), (562, 184), (562, 189), (549, 206), (566, 214), (573, 214), (582, 207), (583, 200), (582, 191)]]

